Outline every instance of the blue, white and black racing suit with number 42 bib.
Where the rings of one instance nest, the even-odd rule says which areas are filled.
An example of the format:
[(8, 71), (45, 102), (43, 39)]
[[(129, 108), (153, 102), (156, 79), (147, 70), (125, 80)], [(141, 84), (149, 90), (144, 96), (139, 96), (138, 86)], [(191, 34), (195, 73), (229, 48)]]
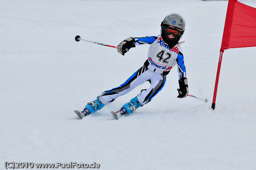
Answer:
[(143, 89), (137, 95), (140, 104), (147, 104), (157, 95), (166, 82), (166, 75), (177, 64), (179, 80), (186, 77), (186, 68), (184, 66), (183, 54), (180, 43), (173, 48), (163, 41), (160, 35), (152, 37), (135, 37), (135, 46), (150, 44), (148, 49), (148, 59), (144, 65), (134, 72), (127, 81), (120, 86), (103, 92), (99, 99), (103, 104), (110, 104), (119, 96), (133, 90), (135, 87), (149, 81), (151, 86)]

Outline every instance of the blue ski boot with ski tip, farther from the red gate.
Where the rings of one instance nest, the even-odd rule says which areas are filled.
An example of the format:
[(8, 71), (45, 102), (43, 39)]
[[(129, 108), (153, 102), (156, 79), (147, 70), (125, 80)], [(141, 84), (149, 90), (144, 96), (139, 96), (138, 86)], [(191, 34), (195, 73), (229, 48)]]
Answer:
[(99, 100), (99, 96), (98, 96), (96, 100), (90, 101), (89, 103), (87, 103), (83, 111), (79, 112), (75, 110), (75, 112), (82, 119), (84, 116), (90, 115), (91, 113), (94, 113), (102, 109), (102, 107), (104, 106), (105, 104), (103, 104), (102, 101)]

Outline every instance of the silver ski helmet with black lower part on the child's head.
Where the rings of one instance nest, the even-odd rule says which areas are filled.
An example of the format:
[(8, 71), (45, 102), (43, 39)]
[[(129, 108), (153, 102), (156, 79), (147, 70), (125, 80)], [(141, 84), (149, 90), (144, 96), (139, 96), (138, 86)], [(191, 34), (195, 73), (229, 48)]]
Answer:
[[(168, 26), (174, 26), (179, 30), (178, 35), (175, 35), (175, 38), (172, 40), (167, 37), (165, 32), (166, 31), (165, 29), (168, 28)], [(177, 14), (177, 13), (168, 14), (161, 23), (161, 35), (165, 41), (180, 40), (180, 38), (184, 33), (184, 30), (185, 30), (185, 20), (180, 14)]]

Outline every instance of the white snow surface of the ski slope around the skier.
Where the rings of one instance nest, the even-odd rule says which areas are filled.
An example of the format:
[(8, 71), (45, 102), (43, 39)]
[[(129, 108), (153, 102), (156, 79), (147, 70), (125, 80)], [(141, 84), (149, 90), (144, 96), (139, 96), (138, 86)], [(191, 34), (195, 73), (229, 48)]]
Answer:
[[(256, 7), (255, 0), (241, 0)], [(256, 48), (223, 54), (216, 109), (212, 96), (227, 1), (0, 0), (0, 169), (5, 161), (99, 163), (102, 170), (255, 170)], [(158, 35), (163, 18), (183, 15), (189, 93), (177, 98), (177, 67), (134, 114), (116, 111), (148, 83), (82, 120), (101, 92), (142, 66), (148, 45), (125, 56), (127, 37)]]

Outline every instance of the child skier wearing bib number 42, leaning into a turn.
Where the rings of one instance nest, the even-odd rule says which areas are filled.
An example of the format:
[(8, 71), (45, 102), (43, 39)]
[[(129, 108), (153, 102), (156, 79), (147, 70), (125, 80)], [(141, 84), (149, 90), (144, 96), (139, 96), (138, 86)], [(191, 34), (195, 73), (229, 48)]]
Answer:
[(167, 15), (161, 23), (161, 35), (151, 37), (129, 37), (119, 43), (117, 50), (125, 55), (129, 49), (141, 44), (151, 44), (148, 49), (148, 59), (125, 83), (102, 92), (95, 101), (89, 102), (82, 112), (75, 111), (80, 118), (102, 109), (106, 104), (111, 104), (116, 98), (125, 95), (135, 87), (149, 81), (151, 86), (143, 89), (131, 101), (124, 104), (117, 112), (111, 112), (116, 119), (125, 114), (134, 112), (144, 106), (157, 95), (166, 82), (166, 75), (177, 64), (179, 74), (178, 98), (188, 95), (188, 81), (184, 66), (183, 54), (178, 41), (185, 30), (185, 20), (177, 13)]

